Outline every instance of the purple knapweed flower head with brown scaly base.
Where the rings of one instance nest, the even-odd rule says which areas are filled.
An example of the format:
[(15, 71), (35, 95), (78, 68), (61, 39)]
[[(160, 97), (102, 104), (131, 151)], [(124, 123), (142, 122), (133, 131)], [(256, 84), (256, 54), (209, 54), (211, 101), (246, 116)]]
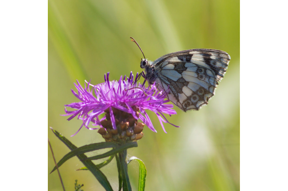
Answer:
[[(78, 94), (71, 91), (80, 102), (65, 105), (76, 109), (67, 111), (65, 108), (65, 115), (71, 115), (67, 120), (78, 116), (78, 119), (83, 120), (80, 129), (83, 126), (91, 130), (99, 129), (89, 128), (90, 124), (100, 126), (98, 132), (106, 141), (136, 141), (142, 138), (144, 125), (157, 132), (145, 111), (150, 110), (156, 113), (162, 129), (166, 133), (163, 122), (169, 122), (164, 113), (170, 116), (176, 114), (176, 111), (171, 109), (173, 108), (172, 104), (164, 104), (169, 102), (165, 99), (168, 92), (157, 90), (155, 84), (146, 87), (145, 82), (137, 83), (138, 77), (137, 73), (134, 80), (131, 72), (127, 80), (125, 80), (126, 76), (124, 78), (121, 76), (119, 81), (109, 81), (109, 73), (107, 73), (104, 75), (104, 83), (91, 85), (90, 82), (86, 82), (85, 88), (77, 81), (77, 84), (74, 83), (74, 85)], [(102, 115), (101, 118), (100, 115), (103, 113), (105, 115)], [(139, 119), (143, 123), (139, 122)]]

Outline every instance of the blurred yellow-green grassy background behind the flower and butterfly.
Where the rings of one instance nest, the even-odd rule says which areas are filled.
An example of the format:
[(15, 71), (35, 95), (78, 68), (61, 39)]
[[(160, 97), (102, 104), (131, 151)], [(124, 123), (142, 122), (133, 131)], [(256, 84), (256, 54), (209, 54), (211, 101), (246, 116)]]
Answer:
[[(60, 116), (65, 104), (78, 102), (70, 89), (76, 79), (95, 85), (107, 72), (110, 80), (140, 73), (143, 56), (129, 37), (152, 61), (195, 48), (228, 52), (228, 71), (209, 104), (187, 113), (175, 107), (178, 114), (168, 120), (181, 127), (164, 124), (167, 134), (150, 112), (157, 133), (144, 127), (139, 146), (128, 155), (145, 163), (146, 190), (239, 190), (239, 0), (49, 0), (48, 14), (48, 125), (76, 146), (104, 139), (86, 128), (70, 137), (81, 126), (81, 120)], [(70, 151), (50, 129), (48, 138), (57, 161)], [(50, 149), (48, 157), (50, 172)], [(104, 190), (89, 171), (75, 171), (82, 166), (74, 157), (59, 168), (66, 190), (74, 190), (75, 179), (85, 191)], [(115, 160), (102, 170), (117, 190)], [(128, 171), (137, 190), (138, 163), (131, 162)], [(62, 190), (57, 172), (49, 174), (48, 190)]]

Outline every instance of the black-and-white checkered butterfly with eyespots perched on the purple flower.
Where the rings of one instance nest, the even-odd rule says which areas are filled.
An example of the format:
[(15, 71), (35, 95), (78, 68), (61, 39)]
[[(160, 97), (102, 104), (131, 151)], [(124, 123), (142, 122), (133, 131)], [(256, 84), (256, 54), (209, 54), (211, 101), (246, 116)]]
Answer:
[(221, 50), (192, 49), (173, 52), (153, 62), (144, 56), (140, 67), (145, 69), (142, 76), (150, 85), (155, 83), (158, 90), (167, 91), (167, 99), (186, 112), (208, 104), (230, 59), (229, 54)]

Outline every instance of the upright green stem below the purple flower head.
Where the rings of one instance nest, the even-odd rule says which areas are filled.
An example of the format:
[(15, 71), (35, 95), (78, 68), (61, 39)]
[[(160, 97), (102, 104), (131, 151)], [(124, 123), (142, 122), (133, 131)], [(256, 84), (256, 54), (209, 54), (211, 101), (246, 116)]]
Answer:
[(123, 179), (123, 191), (132, 191), (127, 168), (127, 150), (119, 152), (119, 159)]

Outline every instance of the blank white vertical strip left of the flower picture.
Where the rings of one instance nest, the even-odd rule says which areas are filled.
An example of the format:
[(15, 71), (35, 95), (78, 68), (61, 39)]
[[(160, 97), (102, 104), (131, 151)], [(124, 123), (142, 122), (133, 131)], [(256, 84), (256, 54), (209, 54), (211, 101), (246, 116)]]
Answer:
[(48, 188), (47, 1), (0, 6), (2, 190)]

